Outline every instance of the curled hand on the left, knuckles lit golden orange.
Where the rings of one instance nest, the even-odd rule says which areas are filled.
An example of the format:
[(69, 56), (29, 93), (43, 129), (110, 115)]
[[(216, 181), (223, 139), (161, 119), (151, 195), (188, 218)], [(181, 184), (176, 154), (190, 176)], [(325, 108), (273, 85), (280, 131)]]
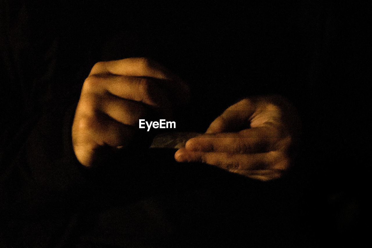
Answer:
[(149, 59), (98, 62), (84, 81), (72, 125), (76, 158), (89, 167), (102, 150), (132, 144), (139, 119), (169, 118), (187, 97), (186, 84)]

